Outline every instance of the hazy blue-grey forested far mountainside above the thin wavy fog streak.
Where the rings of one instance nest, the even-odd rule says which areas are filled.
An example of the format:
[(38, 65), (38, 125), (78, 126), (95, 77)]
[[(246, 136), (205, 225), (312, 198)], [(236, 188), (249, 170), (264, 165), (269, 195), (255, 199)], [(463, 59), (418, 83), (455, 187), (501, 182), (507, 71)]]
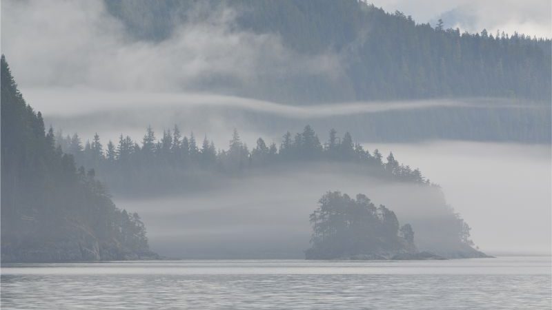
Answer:
[(402, 12), (357, 0), (105, 3), (132, 36), (153, 41), (168, 39), (179, 25), (221, 7), (235, 10), (231, 29), (275, 34), (286, 48), (308, 57), (338, 55), (344, 72), (337, 79), (269, 74), (255, 87), (237, 87), (233, 92), (240, 96), (299, 104), (444, 97), (549, 103), (552, 98), (550, 39), (484, 29), (460, 32), (444, 28), (442, 21), (416, 23)]

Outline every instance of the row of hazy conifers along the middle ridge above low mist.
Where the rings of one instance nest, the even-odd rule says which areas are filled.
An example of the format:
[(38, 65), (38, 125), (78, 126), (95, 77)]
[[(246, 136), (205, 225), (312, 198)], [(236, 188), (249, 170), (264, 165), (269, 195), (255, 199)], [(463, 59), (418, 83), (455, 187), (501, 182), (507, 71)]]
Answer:
[(156, 184), (179, 187), (196, 179), (198, 172), (234, 176), (248, 169), (302, 161), (358, 163), (381, 178), (429, 183), (419, 169), (400, 164), (393, 153), (384, 161), (380, 151), (368, 152), (359, 143), (354, 143), (348, 132), (338, 137), (337, 132), (331, 130), (328, 141), (321, 143), (310, 125), (295, 135), (286, 132), (280, 145), (267, 144), (263, 138), (258, 138), (253, 149), (241, 141), (237, 130), (232, 134), (228, 149), (217, 149), (206, 136), (201, 143), (193, 133), (189, 137), (182, 136), (176, 125), (172, 130), (165, 130), (160, 139), (148, 127), (141, 143), (121, 134), (117, 144), (109, 141), (104, 147), (97, 134), (92, 141), (83, 144), (78, 134), (63, 136), (61, 132), (57, 133), (56, 141), (63, 152), (73, 154), (84, 167), (95, 169), (115, 190)]

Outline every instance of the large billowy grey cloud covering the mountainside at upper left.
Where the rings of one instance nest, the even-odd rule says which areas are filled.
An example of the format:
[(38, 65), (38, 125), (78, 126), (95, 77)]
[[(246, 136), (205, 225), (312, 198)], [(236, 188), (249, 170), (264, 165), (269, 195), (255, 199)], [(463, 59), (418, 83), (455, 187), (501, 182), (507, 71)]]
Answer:
[(235, 17), (198, 6), (168, 39), (139, 41), (103, 1), (3, 1), (2, 52), (23, 88), (253, 92), (284, 74), (339, 76), (336, 55), (299, 55), (275, 34), (235, 30)]

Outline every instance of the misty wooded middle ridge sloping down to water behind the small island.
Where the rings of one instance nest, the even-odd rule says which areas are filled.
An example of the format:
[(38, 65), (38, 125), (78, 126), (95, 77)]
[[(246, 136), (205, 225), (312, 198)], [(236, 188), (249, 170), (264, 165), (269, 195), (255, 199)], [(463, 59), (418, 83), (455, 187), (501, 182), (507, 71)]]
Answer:
[[(254, 180), (278, 180), (284, 176), (284, 183), (289, 183), (287, 178), (294, 178), (298, 173), (313, 178), (311, 183), (302, 183), (293, 189), (300, 193), (298, 196), (308, 196), (311, 187), (314, 188), (313, 183), (317, 183), (315, 187), (324, 187), (324, 190), (335, 188), (335, 184), (330, 185), (331, 182), (327, 180), (333, 172), (338, 172), (337, 174), (345, 179), (351, 178), (351, 182), (349, 185), (341, 183), (337, 188), (347, 188), (346, 186), (354, 183), (366, 187), (366, 190), (371, 192), (392, 192), (391, 196), (383, 194), (383, 198), (393, 205), (394, 210), (400, 208), (400, 216), (411, 223), (417, 231), (417, 245), (420, 245), (422, 251), (431, 251), (447, 258), (484, 256), (473, 249), (469, 226), (459, 214), (446, 205), (439, 186), (422, 176), (419, 169), (399, 163), (393, 153), (384, 158), (377, 149), (369, 152), (362, 145), (355, 143), (353, 136), (348, 132), (338, 135), (335, 130), (331, 130), (326, 142), (322, 143), (313, 128), (306, 125), (302, 132), (286, 132), (279, 145), (268, 144), (263, 138), (258, 138), (255, 146), (248, 147), (239, 137), (237, 130), (234, 130), (232, 134), (228, 133), (230, 143), (226, 149), (217, 149), (206, 136), (199, 142), (193, 133), (188, 136), (181, 134), (177, 126), (159, 136), (158, 139), (152, 128), (148, 127), (144, 138), (139, 142), (121, 134), (117, 143), (102, 143), (96, 134), (91, 140), (83, 143), (77, 134), (64, 137), (61, 132), (56, 135), (56, 141), (64, 152), (75, 154), (77, 163), (94, 167), (99, 178), (108, 184), (118, 198), (130, 200), (209, 196), (210, 193), (217, 193), (221, 189), (229, 189), (236, 185), (243, 186), (241, 190), (245, 191), (245, 198), (253, 199), (256, 196), (255, 189), (253, 185), (250, 187), (248, 184), (254, 183)], [(263, 188), (262, 185), (258, 186)], [(272, 194), (264, 197), (266, 201), (257, 201), (259, 209), (270, 205), (268, 201), (272, 200), (272, 196), (294, 197), (290, 189), (280, 194), (273, 193), (274, 190), (271, 189)], [(224, 197), (224, 194), (221, 195)], [(397, 200), (393, 196), (400, 199)], [(202, 199), (205, 203), (201, 205), (209, 205), (206, 202), (210, 198)], [(230, 196), (228, 200), (223, 201), (217, 201), (217, 207), (220, 207), (218, 204), (226, 205), (231, 202), (236, 204), (236, 209), (231, 209), (232, 212), (239, 212), (239, 198)], [(191, 206), (182, 205), (178, 209), (184, 211), (188, 207)], [(296, 208), (293, 201), (278, 207), (286, 220), (295, 219), (301, 214), (301, 208)], [(209, 212), (208, 207), (199, 209), (201, 212)], [(254, 214), (253, 210), (248, 212)], [(246, 218), (253, 216), (248, 212), (244, 215)], [(194, 216), (193, 212), (188, 216)], [(210, 220), (216, 222), (220, 216), (219, 213), (212, 214)], [(279, 220), (284, 221), (282, 218)], [(440, 234), (435, 235), (435, 229), (438, 229)], [(396, 238), (396, 231), (393, 236)], [(394, 244), (397, 245), (396, 242)], [(328, 247), (333, 247), (333, 243), (328, 244)], [(392, 256), (405, 249), (406, 247), (398, 247)], [(380, 255), (384, 254), (383, 251), (386, 251), (384, 245), (375, 245), (363, 249), (358, 254), (370, 252)], [(389, 249), (386, 253), (390, 254), (390, 251)], [(313, 249), (312, 254), (313, 256), (309, 257), (324, 257), (317, 249)], [(334, 254), (337, 255), (335, 257), (346, 255), (342, 251)]]

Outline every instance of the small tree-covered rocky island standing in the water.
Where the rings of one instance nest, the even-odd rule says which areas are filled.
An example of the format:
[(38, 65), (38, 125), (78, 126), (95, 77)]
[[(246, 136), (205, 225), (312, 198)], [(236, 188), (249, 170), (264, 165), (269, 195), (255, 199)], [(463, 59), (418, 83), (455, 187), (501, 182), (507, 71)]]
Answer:
[(312, 247), (308, 260), (430, 260), (444, 259), (418, 251), (410, 224), (400, 226), (395, 212), (376, 207), (364, 194), (351, 198), (327, 192), (311, 214)]

